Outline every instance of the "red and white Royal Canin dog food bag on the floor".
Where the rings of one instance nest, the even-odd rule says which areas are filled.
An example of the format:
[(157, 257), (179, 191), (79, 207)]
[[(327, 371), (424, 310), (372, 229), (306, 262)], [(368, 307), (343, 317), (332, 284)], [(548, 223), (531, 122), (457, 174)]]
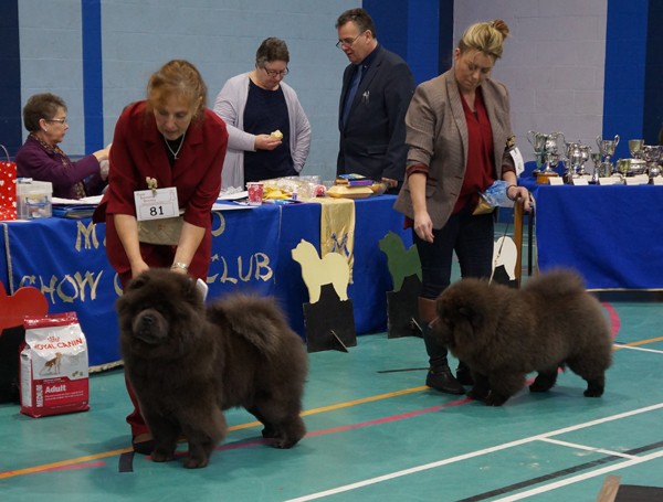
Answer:
[(38, 418), (88, 410), (87, 342), (76, 313), (27, 316), (23, 327), (21, 413)]

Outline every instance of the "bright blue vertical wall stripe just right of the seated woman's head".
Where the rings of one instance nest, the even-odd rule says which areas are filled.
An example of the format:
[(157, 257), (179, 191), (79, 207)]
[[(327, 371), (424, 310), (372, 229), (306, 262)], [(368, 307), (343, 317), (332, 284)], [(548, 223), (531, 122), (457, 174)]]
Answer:
[(85, 153), (104, 147), (104, 82), (102, 71), (102, 3), (82, 0), (83, 107)]

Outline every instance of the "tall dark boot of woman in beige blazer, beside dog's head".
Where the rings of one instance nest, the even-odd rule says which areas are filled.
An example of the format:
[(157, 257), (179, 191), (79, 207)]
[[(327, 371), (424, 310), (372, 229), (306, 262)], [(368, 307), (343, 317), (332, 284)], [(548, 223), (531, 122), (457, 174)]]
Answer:
[(445, 394), (465, 394), (465, 389), (449, 369), (446, 349), (431, 335), (429, 324), (435, 319), (435, 300), (419, 297), (419, 317), (430, 362), (425, 384)]

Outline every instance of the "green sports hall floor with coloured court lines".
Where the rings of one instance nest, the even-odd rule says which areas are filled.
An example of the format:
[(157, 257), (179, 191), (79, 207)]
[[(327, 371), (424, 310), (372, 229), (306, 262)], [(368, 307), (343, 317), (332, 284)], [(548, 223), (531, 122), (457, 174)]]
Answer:
[(265, 445), (233, 409), (199, 470), (134, 456), (124, 373), (94, 374), (86, 413), (34, 419), (0, 405), (0, 501), (594, 501), (609, 474), (663, 487), (663, 307), (603, 306), (615, 352), (601, 398), (566, 372), (549, 393), (490, 408), (424, 386), (421, 339), (361, 335), (349, 353), (309, 355), (295, 448)]

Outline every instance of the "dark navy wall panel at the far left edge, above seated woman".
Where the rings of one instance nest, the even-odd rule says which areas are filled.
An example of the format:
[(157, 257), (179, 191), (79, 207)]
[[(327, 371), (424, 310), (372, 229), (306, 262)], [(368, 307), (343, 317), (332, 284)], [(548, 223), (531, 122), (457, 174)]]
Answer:
[[(19, 44), (19, 2), (0, 0), (0, 145), (11, 157), (23, 143), (21, 131), (21, 60)], [(4, 159), (4, 151), (0, 153)]]

